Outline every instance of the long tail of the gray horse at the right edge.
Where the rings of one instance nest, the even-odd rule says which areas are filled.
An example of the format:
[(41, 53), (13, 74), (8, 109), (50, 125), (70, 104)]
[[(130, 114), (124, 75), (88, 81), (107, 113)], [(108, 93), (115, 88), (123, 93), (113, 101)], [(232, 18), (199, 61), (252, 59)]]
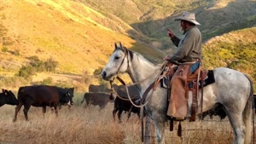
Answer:
[[(247, 77), (247, 76), (246, 76)], [(246, 134), (245, 134), (245, 144), (251, 143), (251, 136), (252, 136), (252, 116), (253, 116), (253, 83), (250, 78), (247, 77), (250, 82), (251, 90), (250, 95), (247, 101), (247, 105), (243, 110), (242, 117), (243, 123), (246, 126)]]

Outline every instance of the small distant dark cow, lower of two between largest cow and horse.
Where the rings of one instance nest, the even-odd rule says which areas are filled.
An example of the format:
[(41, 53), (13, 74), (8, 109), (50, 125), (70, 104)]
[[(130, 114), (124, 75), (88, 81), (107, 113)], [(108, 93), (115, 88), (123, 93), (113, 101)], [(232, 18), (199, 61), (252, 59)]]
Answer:
[[(114, 97), (112, 93), (84, 93), (84, 99), (81, 101), (81, 104), (86, 101), (87, 106), (99, 106), (101, 109), (105, 107), (108, 102), (113, 102)], [(84, 106), (86, 107), (86, 105)]]

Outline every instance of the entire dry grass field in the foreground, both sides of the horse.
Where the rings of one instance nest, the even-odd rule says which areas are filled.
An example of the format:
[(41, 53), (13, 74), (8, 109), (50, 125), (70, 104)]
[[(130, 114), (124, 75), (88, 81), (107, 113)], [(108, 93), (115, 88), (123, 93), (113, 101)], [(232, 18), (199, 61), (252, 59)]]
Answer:
[[(113, 103), (108, 103), (102, 110), (93, 106), (84, 108), (85, 103), (80, 104), (82, 97), (82, 93), (75, 95), (74, 106), (71, 109), (62, 107), (58, 117), (49, 107), (45, 115), (41, 107), (31, 107), (28, 112), (29, 121), (26, 121), (22, 107), (15, 123), (13, 122), (15, 106), (0, 107), (0, 143), (143, 143), (141, 124), (138, 123), (136, 114), (132, 113), (129, 121), (125, 122), (127, 113), (123, 113), (122, 123), (114, 122)], [(207, 117), (204, 121), (183, 122), (182, 128), (180, 138), (177, 136), (177, 124), (171, 132), (169, 124), (166, 123), (166, 143), (227, 144), (233, 141), (233, 132), (227, 118), (220, 121), (218, 117), (213, 119)], [(150, 138), (155, 139), (154, 129), (150, 132)]]

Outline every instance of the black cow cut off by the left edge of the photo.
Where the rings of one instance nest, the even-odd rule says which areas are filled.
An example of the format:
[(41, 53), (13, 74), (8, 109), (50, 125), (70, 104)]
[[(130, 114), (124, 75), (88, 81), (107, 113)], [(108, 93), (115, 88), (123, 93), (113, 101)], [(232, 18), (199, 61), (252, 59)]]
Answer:
[(4, 104), (18, 105), (19, 101), (15, 97), (15, 94), (11, 90), (3, 89), (3, 93), (0, 93), (0, 107)]

